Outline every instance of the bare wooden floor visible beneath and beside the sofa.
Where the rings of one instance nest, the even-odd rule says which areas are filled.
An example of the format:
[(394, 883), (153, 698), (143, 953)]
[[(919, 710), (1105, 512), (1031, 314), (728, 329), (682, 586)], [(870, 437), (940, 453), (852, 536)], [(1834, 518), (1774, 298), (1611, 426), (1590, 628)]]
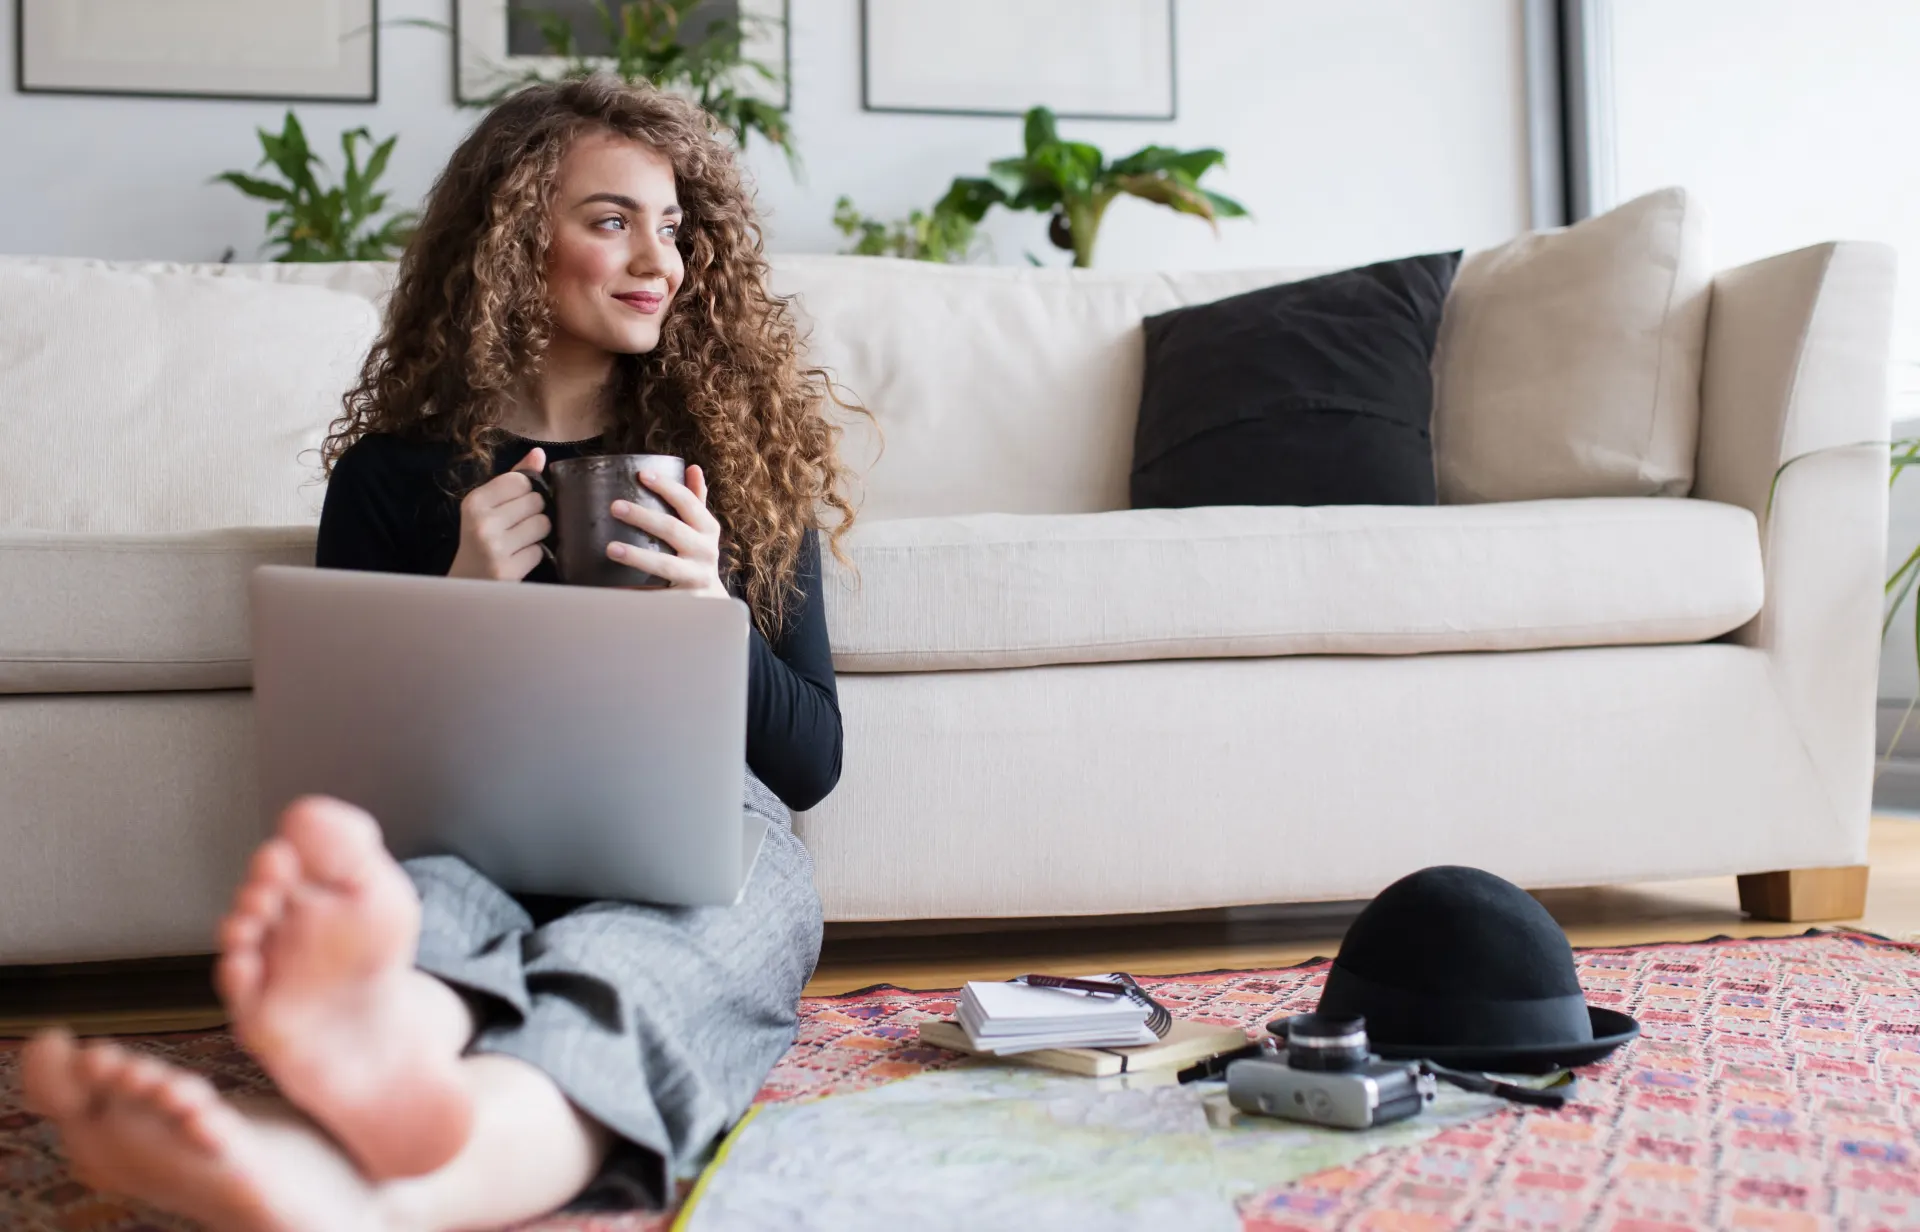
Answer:
[[(1866, 913), (1828, 923), (1920, 940), (1920, 819), (1874, 817), (1870, 862)], [(1542, 890), (1538, 898), (1576, 946), (1772, 936), (1809, 927), (1747, 919), (1732, 877)], [(1284, 967), (1331, 958), (1359, 908), (1334, 902), (1100, 919), (828, 925), (820, 969), (806, 992), (822, 996), (868, 984), (954, 988), (1023, 971), (1171, 975)], [(0, 1036), (52, 1021), (86, 1034), (213, 1027), (225, 1019), (207, 971), (204, 958), (0, 967)]]

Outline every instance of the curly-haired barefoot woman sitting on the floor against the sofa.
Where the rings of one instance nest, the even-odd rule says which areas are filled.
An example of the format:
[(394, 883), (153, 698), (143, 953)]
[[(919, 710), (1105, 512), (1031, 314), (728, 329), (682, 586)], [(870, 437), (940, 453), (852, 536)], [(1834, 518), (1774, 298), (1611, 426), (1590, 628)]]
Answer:
[[(326, 441), (319, 564), (549, 580), (522, 472), (676, 453), (674, 553), (632, 568), (753, 612), (732, 908), (513, 898), (451, 856), (294, 802), (221, 929), (234, 1031), (288, 1103), (46, 1034), (31, 1103), (94, 1184), (219, 1230), (492, 1228), (576, 1197), (660, 1205), (793, 1040), (820, 902), (789, 808), (839, 777), (814, 510), (852, 520), (753, 207), (691, 104), (609, 79), (532, 86), (455, 152), (386, 328)], [(637, 574), (636, 574), (637, 578)], [(730, 589), (732, 587), (732, 589)], [(636, 593), (634, 603), (647, 603)], [(538, 645), (526, 647), (540, 670)], [(538, 823), (538, 819), (530, 819)]]

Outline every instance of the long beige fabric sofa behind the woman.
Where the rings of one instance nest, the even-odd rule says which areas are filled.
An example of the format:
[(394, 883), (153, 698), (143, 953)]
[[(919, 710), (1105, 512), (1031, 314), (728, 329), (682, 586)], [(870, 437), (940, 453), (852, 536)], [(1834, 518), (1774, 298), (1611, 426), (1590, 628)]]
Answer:
[[(1127, 510), (1140, 317), (1300, 271), (778, 259), (885, 432), (828, 917), (1860, 864), (1891, 255), (1709, 271), (1678, 192), (1469, 255), (1436, 509)], [(244, 580), (311, 557), (388, 278), (0, 259), (0, 963), (209, 948), (263, 831)]]

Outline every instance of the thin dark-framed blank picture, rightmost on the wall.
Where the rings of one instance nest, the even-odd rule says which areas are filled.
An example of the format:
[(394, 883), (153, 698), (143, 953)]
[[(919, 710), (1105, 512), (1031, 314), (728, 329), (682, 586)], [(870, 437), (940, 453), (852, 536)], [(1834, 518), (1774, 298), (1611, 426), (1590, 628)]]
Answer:
[(1173, 119), (1173, 0), (860, 0), (868, 111)]

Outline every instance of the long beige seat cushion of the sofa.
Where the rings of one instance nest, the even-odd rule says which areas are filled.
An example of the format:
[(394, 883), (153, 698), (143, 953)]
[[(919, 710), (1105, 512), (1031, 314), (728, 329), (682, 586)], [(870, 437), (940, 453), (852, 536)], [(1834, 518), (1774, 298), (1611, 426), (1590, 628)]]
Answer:
[[(864, 520), (824, 553), (841, 672), (1705, 641), (1761, 608), (1709, 501)], [(246, 580), (313, 530), (0, 533), (0, 693), (244, 689)]]

